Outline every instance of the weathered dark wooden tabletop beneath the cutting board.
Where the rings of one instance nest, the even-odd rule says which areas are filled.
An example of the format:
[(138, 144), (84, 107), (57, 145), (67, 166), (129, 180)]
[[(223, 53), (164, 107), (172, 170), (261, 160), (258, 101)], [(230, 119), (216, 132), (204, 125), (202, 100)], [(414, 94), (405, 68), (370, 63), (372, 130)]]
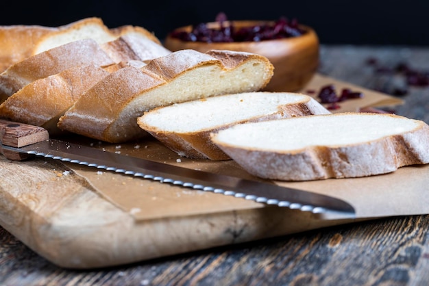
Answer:
[[(319, 73), (385, 92), (406, 90), (395, 113), (429, 123), (429, 88), (376, 72), (370, 58), (429, 71), (429, 49), (322, 46)], [(0, 227), (0, 285), (428, 285), (428, 218), (382, 218), (87, 271), (58, 268)]]

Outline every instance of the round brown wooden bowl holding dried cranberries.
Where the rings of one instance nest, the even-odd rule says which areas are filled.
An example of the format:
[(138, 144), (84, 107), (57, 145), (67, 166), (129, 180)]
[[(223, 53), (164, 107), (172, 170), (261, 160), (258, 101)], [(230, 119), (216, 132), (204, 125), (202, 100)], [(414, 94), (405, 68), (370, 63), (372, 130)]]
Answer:
[[(273, 23), (273, 21), (230, 21), (234, 27), (246, 27)], [(207, 24), (210, 28), (219, 23)], [(246, 51), (267, 57), (274, 66), (274, 75), (264, 89), (272, 92), (296, 92), (306, 86), (319, 66), (319, 39), (314, 29), (299, 25), (306, 31), (302, 36), (263, 40), (260, 42), (186, 42), (167, 36), (164, 47), (170, 51), (194, 49), (206, 52), (210, 49)], [(192, 26), (180, 27), (178, 31), (191, 31)]]

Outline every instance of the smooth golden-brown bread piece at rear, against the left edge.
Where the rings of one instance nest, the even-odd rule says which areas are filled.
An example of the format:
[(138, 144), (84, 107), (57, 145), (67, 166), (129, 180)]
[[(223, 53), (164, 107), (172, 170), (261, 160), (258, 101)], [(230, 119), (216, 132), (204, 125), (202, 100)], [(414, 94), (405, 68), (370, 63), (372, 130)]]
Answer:
[(39, 25), (0, 26), (0, 73), (32, 55), (32, 47), (42, 36), (57, 28)]

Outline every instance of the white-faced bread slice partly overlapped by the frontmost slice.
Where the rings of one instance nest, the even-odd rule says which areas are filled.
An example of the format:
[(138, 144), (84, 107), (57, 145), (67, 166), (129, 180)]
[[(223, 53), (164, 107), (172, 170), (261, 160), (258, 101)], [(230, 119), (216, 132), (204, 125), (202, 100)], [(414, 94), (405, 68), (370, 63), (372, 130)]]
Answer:
[(138, 118), (138, 125), (180, 156), (230, 159), (210, 140), (210, 133), (243, 122), (330, 114), (312, 97), (289, 92), (245, 92), (158, 107)]

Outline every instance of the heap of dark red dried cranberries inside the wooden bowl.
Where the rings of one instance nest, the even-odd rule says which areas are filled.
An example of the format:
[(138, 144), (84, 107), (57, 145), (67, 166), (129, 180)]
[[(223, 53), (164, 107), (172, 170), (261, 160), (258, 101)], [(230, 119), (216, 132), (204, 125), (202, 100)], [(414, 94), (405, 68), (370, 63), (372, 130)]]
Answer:
[(285, 17), (281, 17), (273, 25), (255, 25), (241, 29), (236, 29), (234, 21), (228, 22), (223, 12), (217, 14), (216, 21), (219, 23), (219, 29), (212, 29), (206, 23), (199, 23), (194, 25), (190, 32), (172, 31), (169, 36), (187, 42), (260, 42), (297, 37), (305, 33), (296, 19), (289, 21)]

